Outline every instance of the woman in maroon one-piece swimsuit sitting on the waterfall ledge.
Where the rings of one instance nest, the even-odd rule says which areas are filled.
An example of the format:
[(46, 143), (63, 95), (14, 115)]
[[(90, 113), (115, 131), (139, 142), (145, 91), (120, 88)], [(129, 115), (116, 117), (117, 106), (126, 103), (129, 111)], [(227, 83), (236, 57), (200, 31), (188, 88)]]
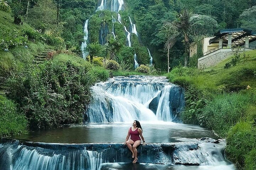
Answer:
[[(134, 158), (133, 163), (136, 163), (138, 158), (137, 158), (137, 147), (140, 145), (140, 137), (143, 140), (142, 146), (145, 146), (145, 140), (142, 135), (142, 127), (140, 126), (139, 121), (134, 120), (133, 126), (129, 128), (128, 134), (126, 136), (126, 141), (124, 142), (124, 145), (127, 145), (127, 147), (132, 151), (132, 158)], [(130, 137), (130, 140), (128, 140)], [(128, 140), (128, 141), (127, 141)]]

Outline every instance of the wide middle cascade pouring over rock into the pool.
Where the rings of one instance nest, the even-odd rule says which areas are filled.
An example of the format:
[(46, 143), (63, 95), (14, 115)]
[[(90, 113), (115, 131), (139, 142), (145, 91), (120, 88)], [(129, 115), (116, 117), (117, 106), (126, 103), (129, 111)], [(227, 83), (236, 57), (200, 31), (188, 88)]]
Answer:
[[(134, 55), (136, 57), (136, 54)], [(89, 122), (178, 121), (184, 107), (183, 90), (166, 77), (114, 77), (91, 88)]]

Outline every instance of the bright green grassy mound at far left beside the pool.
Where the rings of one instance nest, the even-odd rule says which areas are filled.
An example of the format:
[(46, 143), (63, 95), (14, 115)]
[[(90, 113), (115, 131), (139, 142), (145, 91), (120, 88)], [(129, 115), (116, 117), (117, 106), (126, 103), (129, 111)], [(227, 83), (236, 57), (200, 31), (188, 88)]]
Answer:
[(0, 137), (27, 131), (25, 115), (17, 113), (14, 102), (0, 95)]

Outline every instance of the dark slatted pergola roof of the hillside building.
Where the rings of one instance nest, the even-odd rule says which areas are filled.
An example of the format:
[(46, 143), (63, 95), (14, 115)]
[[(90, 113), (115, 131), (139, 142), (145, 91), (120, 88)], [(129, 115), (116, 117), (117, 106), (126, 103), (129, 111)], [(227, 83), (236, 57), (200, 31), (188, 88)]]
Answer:
[(234, 28), (234, 29), (221, 29), (214, 34), (214, 38), (209, 40), (209, 43), (218, 42), (219, 38), (223, 39), (223, 42), (228, 42), (228, 35), (232, 35), (232, 44), (244, 44), (245, 36), (249, 37), (249, 42), (256, 40), (256, 33), (251, 29), (246, 28)]

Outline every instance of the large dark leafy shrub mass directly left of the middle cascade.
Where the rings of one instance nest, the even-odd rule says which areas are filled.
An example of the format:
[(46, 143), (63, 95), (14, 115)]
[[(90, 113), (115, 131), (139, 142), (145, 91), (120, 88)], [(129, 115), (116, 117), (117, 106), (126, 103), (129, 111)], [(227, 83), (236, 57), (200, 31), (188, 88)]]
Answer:
[[(28, 66), (8, 81), (10, 97), (26, 113), (33, 128), (80, 123), (97, 71), (77, 56), (60, 54), (40, 68)], [(97, 72), (105, 79), (106, 72)]]

